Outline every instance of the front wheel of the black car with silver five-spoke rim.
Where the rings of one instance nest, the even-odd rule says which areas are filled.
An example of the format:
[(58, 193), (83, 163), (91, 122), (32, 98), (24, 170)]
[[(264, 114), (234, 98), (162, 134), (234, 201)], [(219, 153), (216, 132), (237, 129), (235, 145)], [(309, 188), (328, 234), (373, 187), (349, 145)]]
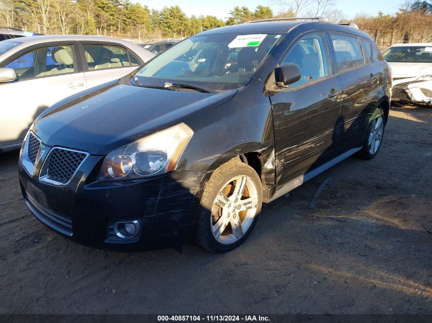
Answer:
[(257, 172), (236, 160), (223, 164), (204, 188), (195, 242), (214, 253), (235, 249), (251, 233), (261, 206), (262, 186)]

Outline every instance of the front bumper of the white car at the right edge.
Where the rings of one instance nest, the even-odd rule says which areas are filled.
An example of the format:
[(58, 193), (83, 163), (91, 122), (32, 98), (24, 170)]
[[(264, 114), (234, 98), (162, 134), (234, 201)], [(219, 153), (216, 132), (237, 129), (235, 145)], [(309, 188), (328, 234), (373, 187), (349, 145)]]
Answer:
[(393, 84), (392, 101), (432, 104), (432, 81), (402, 79)]

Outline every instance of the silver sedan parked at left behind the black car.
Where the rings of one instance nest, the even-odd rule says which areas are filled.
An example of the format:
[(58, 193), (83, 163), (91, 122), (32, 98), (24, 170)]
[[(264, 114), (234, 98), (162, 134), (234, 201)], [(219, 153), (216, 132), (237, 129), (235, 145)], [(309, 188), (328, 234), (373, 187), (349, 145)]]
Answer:
[(54, 103), (120, 79), (154, 57), (128, 41), (99, 36), (32, 36), (0, 42), (0, 153), (18, 148)]

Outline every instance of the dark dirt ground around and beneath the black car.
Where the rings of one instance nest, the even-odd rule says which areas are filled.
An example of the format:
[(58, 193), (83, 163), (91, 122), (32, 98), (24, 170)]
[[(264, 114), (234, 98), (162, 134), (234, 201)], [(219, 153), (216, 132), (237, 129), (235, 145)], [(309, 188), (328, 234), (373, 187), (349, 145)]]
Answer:
[(432, 108), (394, 107), (375, 159), (349, 158), (265, 205), (221, 255), (66, 240), (22, 201), (17, 156), (0, 156), (0, 313), (432, 311)]

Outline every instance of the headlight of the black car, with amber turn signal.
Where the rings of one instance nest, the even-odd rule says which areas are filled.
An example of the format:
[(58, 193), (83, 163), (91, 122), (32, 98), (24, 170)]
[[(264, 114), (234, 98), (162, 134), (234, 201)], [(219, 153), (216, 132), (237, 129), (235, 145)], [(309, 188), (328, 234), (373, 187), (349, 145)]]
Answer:
[(171, 171), (192, 135), (192, 129), (179, 123), (120, 147), (105, 157), (100, 180), (133, 180)]

